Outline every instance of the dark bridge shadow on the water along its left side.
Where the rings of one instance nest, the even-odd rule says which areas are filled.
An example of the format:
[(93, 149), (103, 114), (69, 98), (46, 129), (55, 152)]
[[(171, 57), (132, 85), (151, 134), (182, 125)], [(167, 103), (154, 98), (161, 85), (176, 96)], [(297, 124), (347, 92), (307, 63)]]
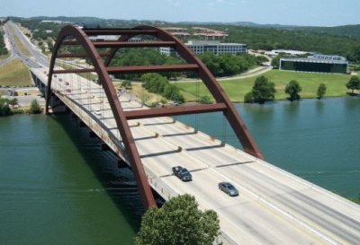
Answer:
[(132, 171), (126, 167), (118, 168), (118, 157), (112, 151), (102, 151), (101, 140), (90, 137), (91, 130), (81, 127), (80, 119), (72, 118), (70, 113), (52, 114), (50, 117), (65, 129), (67, 136), (76, 145), (78, 152), (100, 181), (103, 190), (111, 197), (133, 231), (139, 231), (144, 208)]

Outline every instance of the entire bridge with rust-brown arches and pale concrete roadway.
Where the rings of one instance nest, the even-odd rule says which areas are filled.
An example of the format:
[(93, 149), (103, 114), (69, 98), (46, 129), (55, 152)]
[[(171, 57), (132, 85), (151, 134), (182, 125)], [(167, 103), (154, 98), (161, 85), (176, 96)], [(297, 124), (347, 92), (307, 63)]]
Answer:
[[(100, 35), (118, 39), (94, 38)], [(137, 36), (151, 38), (132, 41)], [(186, 64), (111, 66), (112, 58), (121, 48), (165, 46), (175, 48)], [(76, 62), (79, 58), (85, 58), (87, 63), (79, 65)], [(150, 109), (133, 100), (130, 94), (116, 92), (110, 76), (189, 71), (199, 74), (215, 103)], [(166, 31), (148, 26), (104, 30), (67, 26), (58, 34), (49, 70), (32, 68), (31, 74), (46, 92), (47, 113), (61, 107), (71, 110), (103, 145), (130, 166), (145, 207), (156, 205), (151, 189), (166, 200), (189, 193), (202, 209), (213, 209), (219, 214), (219, 244), (360, 241), (360, 206), (264, 161), (216, 79), (200, 59)], [(229, 121), (244, 150), (171, 118), (219, 111)], [(193, 181), (177, 179), (172, 174), (172, 167), (177, 165), (191, 171)], [(221, 181), (233, 183), (239, 196), (229, 197), (221, 192), (217, 186)]]

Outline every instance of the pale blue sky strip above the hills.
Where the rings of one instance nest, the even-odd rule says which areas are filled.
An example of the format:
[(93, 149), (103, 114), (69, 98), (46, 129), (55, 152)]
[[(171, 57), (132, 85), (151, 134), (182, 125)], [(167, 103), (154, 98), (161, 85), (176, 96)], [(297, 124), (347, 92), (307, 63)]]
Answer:
[(166, 22), (360, 24), (360, 0), (0, 0), (0, 16), (91, 16)]

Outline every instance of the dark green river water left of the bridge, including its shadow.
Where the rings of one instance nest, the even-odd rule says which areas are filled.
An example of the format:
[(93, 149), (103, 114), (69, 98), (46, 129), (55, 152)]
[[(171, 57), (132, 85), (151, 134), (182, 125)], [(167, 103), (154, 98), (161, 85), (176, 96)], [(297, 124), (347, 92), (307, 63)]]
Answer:
[(67, 115), (0, 118), (0, 243), (132, 244), (141, 203), (116, 166)]

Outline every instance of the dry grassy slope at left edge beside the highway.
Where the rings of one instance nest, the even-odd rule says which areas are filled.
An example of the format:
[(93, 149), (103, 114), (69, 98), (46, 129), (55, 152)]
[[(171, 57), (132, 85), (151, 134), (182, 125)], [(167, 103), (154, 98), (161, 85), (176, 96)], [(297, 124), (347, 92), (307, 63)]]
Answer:
[(29, 69), (18, 59), (14, 59), (12, 62), (0, 66), (0, 85), (31, 85)]

